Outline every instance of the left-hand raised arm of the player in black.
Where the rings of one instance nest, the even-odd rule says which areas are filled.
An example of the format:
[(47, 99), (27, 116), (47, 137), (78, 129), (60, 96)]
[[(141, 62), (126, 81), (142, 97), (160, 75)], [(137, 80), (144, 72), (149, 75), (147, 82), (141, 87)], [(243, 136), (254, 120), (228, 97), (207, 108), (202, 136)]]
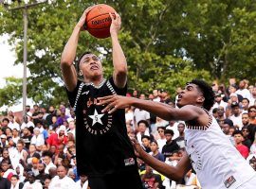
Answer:
[(76, 51), (79, 41), (80, 32), (84, 29), (84, 23), (87, 13), (92, 9), (91, 7), (85, 9), (82, 17), (77, 25), (74, 27), (73, 32), (64, 46), (64, 52), (61, 59), (61, 69), (64, 77), (64, 83), (68, 91), (72, 92), (77, 85), (77, 73), (73, 62), (76, 58)]

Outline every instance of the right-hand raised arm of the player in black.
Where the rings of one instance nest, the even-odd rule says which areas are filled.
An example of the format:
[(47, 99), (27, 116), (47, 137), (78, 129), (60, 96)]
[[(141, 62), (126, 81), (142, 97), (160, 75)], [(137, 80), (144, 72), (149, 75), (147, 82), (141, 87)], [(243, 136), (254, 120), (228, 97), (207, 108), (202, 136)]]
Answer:
[(119, 44), (119, 29), (121, 26), (121, 19), (119, 14), (116, 12), (116, 17), (110, 14), (112, 19), (112, 24), (110, 26), (110, 35), (112, 41), (112, 56), (113, 56), (113, 66), (114, 73), (113, 78), (115, 84), (119, 88), (123, 88), (127, 81), (127, 62), (124, 53)]

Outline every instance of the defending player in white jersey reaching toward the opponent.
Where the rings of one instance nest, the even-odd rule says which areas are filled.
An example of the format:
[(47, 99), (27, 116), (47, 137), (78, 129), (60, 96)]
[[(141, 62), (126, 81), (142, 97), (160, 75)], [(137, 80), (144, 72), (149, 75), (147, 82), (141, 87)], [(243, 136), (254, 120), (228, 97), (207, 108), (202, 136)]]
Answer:
[(105, 96), (99, 100), (100, 105), (107, 105), (103, 112), (113, 113), (134, 106), (165, 120), (186, 122), (186, 152), (175, 167), (156, 160), (139, 146), (137, 140), (132, 139), (137, 156), (171, 180), (182, 179), (193, 168), (202, 188), (255, 188), (254, 170), (231, 145), (229, 138), (209, 113), (214, 103), (214, 94), (206, 82), (197, 79), (189, 82), (178, 95), (179, 109), (163, 103), (119, 95)]

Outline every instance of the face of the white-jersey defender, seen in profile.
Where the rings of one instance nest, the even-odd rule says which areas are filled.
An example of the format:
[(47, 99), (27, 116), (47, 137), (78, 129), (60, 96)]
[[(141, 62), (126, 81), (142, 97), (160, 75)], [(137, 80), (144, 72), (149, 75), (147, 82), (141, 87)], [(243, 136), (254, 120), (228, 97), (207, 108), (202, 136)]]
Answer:
[(185, 89), (178, 94), (177, 106), (179, 108), (186, 105), (196, 105), (202, 97), (202, 93), (197, 89), (195, 84), (189, 83)]

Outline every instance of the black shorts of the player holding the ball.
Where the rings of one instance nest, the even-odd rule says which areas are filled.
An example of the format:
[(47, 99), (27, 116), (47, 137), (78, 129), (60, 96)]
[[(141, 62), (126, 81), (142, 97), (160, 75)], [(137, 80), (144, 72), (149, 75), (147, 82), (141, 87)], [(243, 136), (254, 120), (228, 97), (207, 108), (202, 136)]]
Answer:
[(114, 173), (102, 177), (88, 177), (90, 189), (143, 189), (137, 171)]

